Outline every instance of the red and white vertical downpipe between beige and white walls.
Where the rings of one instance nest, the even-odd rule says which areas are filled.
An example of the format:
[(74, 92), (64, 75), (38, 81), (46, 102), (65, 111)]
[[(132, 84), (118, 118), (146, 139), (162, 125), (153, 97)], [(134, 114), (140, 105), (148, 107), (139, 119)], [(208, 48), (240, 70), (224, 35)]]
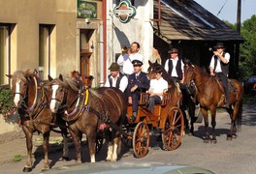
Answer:
[(107, 0), (102, 1), (102, 24), (101, 24), (101, 38), (100, 38), (100, 56), (101, 56), (101, 81), (103, 86), (107, 76)]

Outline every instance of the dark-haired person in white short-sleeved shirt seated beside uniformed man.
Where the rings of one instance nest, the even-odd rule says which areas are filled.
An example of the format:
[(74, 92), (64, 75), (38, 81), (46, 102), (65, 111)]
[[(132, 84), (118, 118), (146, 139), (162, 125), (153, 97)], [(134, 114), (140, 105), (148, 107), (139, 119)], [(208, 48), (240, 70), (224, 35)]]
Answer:
[(164, 93), (168, 91), (168, 82), (162, 77), (162, 73), (162, 68), (157, 68), (155, 71), (155, 79), (150, 80), (148, 109), (152, 113), (154, 111), (154, 105), (161, 103)]

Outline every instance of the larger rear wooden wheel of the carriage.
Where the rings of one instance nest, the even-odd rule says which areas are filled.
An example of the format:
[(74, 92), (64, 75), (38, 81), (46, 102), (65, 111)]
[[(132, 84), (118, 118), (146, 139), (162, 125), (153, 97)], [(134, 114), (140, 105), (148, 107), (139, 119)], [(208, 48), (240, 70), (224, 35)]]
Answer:
[(164, 149), (168, 151), (175, 150), (180, 145), (184, 131), (182, 111), (176, 106), (168, 109), (164, 125), (165, 128), (162, 132)]

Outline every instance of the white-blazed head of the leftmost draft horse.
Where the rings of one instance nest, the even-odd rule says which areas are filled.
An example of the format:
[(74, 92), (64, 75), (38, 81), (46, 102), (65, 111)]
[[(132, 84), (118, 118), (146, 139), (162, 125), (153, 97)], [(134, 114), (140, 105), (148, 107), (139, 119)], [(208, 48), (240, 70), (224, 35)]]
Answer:
[(16, 71), (14, 74), (6, 75), (12, 78), (11, 90), (16, 106), (18, 108), (28, 108), (33, 105), (37, 97), (38, 72), (36, 70), (34, 72), (30, 72), (30, 70)]

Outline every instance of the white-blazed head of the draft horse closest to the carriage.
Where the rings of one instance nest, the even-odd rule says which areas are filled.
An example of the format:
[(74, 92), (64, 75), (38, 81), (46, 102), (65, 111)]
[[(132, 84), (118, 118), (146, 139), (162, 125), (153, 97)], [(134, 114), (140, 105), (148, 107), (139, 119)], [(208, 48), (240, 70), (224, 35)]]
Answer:
[(53, 79), (48, 75), (48, 81), (49, 107), (53, 113), (67, 107), (68, 101), (75, 102), (80, 90), (80, 83), (76, 78), (63, 78), (62, 74), (59, 74), (58, 78)]

